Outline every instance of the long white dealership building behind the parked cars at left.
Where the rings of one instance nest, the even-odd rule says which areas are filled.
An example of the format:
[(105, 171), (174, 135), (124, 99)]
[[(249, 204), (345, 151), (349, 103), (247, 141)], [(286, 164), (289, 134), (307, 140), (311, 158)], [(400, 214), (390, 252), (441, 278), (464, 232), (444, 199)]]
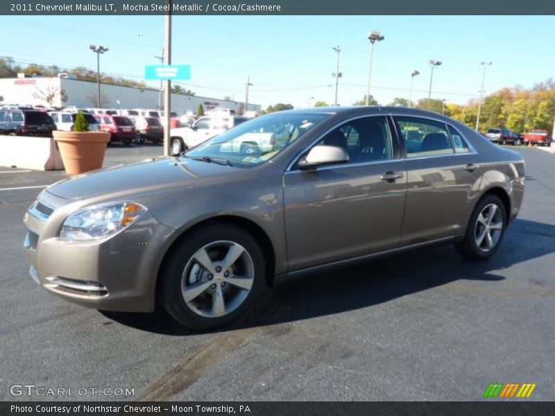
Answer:
[[(31, 77), (0, 78), (0, 104), (30, 104), (44, 107), (96, 107), (97, 85), (94, 82), (65, 78)], [(122, 87), (101, 84), (103, 108), (158, 108), (160, 92), (155, 88)], [(50, 103), (49, 103), (50, 101)], [(171, 94), (171, 110), (179, 115), (194, 113), (198, 105), (204, 110), (215, 107), (230, 108), (236, 112), (244, 109), (240, 101), (221, 100), (201, 96)], [(260, 112), (257, 104), (248, 104), (248, 111)]]

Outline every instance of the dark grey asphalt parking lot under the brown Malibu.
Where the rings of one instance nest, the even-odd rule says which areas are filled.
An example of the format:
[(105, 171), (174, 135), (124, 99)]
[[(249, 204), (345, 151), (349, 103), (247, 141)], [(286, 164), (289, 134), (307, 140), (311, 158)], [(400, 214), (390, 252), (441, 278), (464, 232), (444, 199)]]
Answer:
[[(536, 383), (531, 399), (555, 400), (555, 155), (516, 150), (524, 206), (493, 259), (445, 246), (305, 277), (211, 333), (161, 312), (84, 309), (37, 286), (22, 217), (36, 187), (65, 174), (0, 168), (0, 399), (53, 399), (10, 394), (27, 383), (135, 389), (77, 397), (88, 400), (466, 401), (489, 383)], [(160, 153), (114, 146), (105, 166)]]

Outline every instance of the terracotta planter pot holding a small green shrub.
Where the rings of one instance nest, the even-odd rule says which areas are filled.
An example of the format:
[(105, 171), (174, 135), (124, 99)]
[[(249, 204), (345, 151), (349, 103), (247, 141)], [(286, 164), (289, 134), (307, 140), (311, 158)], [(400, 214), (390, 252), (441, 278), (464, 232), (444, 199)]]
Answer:
[(53, 132), (58, 142), (65, 171), (78, 175), (100, 169), (104, 162), (104, 153), (110, 133), (107, 132)]

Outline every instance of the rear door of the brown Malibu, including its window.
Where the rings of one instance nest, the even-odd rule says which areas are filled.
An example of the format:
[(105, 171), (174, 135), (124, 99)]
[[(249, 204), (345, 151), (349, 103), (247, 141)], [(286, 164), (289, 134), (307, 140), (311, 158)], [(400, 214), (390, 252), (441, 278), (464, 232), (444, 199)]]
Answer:
[(477, 153), (442, 121), (393, 118), (407, 168), (402, 245), (463, 234), (469, 201), (481, 177)]

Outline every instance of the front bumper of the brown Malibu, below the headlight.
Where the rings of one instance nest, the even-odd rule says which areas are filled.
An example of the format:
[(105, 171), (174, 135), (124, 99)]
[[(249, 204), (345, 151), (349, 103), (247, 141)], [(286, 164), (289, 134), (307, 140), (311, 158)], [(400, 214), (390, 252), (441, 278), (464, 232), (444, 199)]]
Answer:
[(146, 211), (135, 223), (108, 239), (65, 241), (58, 238), (63, 221), (75, 208), (71, 201), (41, 194), (52, 207), (48, 218), (26, 213), (24, 252), (31, 277), (51, 293), (108, 311), (154, 310), (160, 253), (173, 229)]

